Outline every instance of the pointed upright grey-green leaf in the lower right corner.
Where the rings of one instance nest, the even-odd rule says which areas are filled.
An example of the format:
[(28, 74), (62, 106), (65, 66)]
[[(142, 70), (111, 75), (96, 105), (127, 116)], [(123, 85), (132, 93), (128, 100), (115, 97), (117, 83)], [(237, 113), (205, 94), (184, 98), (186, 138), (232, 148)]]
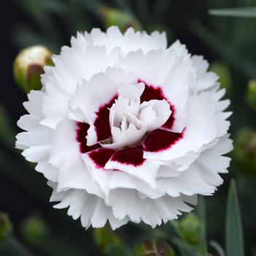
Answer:
[(236, 183), (230, 183), (227, 197), (226, 215), (226, 252), (227, 256), (244, 256), (244, 238)]

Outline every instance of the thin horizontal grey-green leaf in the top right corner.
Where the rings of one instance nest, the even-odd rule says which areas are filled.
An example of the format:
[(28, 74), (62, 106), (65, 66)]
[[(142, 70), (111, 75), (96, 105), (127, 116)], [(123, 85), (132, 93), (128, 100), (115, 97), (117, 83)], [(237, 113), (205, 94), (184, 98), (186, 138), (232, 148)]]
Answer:
[(208, 13), (215, 16), (256, 18), (256, 7), (212, 9)]

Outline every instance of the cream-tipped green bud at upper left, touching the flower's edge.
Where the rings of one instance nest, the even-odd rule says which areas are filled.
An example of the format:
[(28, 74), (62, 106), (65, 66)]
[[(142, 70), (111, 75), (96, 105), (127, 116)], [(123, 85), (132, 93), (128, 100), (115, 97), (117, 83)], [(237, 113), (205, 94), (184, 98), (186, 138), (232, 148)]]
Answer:
[(44, 46), (32, 46), (21, 50), (13, 64), (16, 83), (26, 92), (42, 87), (40, 75), (45, 65), (53, 65), (52, 53)]

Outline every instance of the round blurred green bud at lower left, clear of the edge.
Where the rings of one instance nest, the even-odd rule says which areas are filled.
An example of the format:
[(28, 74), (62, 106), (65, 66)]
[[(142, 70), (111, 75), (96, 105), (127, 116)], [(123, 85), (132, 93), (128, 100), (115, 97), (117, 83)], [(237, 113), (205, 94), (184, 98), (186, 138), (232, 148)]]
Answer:
[(21, 225), (23, 239), (33, 246), (44, 243), (48, 238), (48, 226), (40, 217), (29, 217)]

